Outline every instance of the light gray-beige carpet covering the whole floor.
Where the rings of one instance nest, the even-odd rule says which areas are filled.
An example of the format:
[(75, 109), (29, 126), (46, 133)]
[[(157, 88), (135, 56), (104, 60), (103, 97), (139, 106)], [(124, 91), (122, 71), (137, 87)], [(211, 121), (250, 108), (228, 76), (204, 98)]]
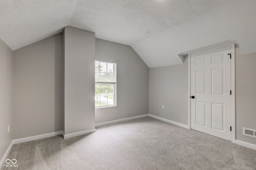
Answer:
[(2, 170), (255, 170), (256, 150), (151, 117), (13, 146)]

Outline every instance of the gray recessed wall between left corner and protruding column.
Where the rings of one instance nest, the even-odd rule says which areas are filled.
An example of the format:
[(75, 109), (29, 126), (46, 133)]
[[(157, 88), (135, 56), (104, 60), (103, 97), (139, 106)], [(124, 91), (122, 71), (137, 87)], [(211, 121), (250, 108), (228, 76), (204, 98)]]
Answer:
[(63, 128), (62, 34), (14, 51), (14, 139)]

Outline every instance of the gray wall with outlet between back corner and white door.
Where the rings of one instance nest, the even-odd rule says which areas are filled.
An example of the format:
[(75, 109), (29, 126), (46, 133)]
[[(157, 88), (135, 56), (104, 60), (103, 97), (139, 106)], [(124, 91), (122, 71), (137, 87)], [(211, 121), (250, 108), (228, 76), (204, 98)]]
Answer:
[(188, 125), (188, 57), (183, 64), (149, 68), (149, 114)]

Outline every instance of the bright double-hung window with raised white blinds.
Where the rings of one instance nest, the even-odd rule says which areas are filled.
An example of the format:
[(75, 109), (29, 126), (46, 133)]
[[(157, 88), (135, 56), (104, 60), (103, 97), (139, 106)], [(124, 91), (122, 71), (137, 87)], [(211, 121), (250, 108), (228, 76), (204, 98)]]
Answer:
[(116, 63), (95, 61), (95, 108), (116, 106)]

